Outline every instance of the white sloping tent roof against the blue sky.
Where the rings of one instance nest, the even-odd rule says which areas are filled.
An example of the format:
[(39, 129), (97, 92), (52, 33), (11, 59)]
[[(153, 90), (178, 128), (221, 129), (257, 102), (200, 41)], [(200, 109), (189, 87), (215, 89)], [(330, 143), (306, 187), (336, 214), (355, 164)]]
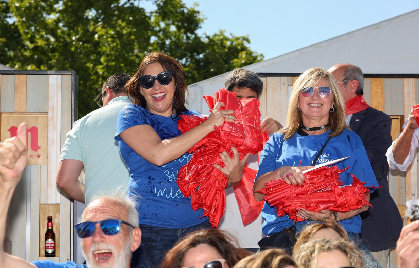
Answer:
[[(351, 63), (364, 73), (419, 73), (419, 9), (244, 68), (302, 73), (311, 67)], [(207, 110), (202, 95), (224, 88), (228, 73), (189, 85), (189, 109)]]

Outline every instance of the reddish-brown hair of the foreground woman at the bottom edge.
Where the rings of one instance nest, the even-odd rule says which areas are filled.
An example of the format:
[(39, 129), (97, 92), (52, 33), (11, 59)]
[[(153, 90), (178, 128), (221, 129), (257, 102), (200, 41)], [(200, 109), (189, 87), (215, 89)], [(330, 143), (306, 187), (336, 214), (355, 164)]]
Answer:
[(203, 229), (191, 232), (174, 245), (166, 253), (158, 267), (181, 268), (186, 252), (201, 244), (215, 247), (230, 267), (233, 267), (235, 263), (250, 254), (247, 250), (240, 248), (237, 240), (227, 232), (217, 229)]

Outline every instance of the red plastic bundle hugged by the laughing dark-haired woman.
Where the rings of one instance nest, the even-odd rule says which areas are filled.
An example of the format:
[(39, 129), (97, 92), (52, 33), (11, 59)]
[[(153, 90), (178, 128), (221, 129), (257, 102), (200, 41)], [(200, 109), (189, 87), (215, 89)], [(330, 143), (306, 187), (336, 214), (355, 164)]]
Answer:
[[(227, 151), (230, 157), (233, 157), (231, 147), (235, 146), (241, 160), (248, 152), (251, 154), (260, 152), (263, 138), (260, 131), (259, 101), (257, 99), (236, 99), (235, 93), (224, 88), (215, 93), (215, 98), (204, 96), (204, 99), (210, 111), (218, 101), (222, 101), (225, 103), (222, 109), (232, 109), (237, 120), (225, 122), (220, 127), (216, 127), (215, 131), (209, 133), (189, 150), (189, 152), (193, 152), (193, 155), (189, 162), (179, 170), (176, 183), (185, 197), (191, 196), (192, 209), (195, 211), (202, 207), (204, 216), (208, 216), (212, 227), (217, 227), (225, 211), (225, 188), (228, 184), (227, 177), (213, 167), (214, 164), (224, 167), (219, 153)], [(178, 120), (178, 129), (185, 133), (205, 120), (206, 118), (199, 116), (181, 116), (181, 120)], [(254, 174), (247, 166), (245, 169), (243, 176)], [(251, 180), (253, 179), (254, 177), (251, 178)], [(245, 198), (251, 196), (248, 202), (252, 202), (253, 194), (248, 194), (249, 190), (246, 190), (248, 182), (247, 179), (243, 183), (238, 183), (237, 188), (239, 191), (244, 191)], [(255, 202), (253, 201), (252, 204)], [(246, 201), (242, 203), (244, 204)], [(259, 202), (256, 204), (257, 214), (259, 214), (261, 205)]]

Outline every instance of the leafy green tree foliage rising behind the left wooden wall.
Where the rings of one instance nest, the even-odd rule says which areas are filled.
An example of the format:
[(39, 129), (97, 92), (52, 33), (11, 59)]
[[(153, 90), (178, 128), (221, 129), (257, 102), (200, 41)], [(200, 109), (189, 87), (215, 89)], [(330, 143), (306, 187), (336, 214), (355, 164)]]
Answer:
[(147, 52), (178, 59), (191, 84), (263, 59), (247, 36), (199, 35), (204, 18), (181, 0), (0, 0), (0, 62), (18, 70), (75, 70), (79, 117), (97, 108), (109, 75), (133, 74)]

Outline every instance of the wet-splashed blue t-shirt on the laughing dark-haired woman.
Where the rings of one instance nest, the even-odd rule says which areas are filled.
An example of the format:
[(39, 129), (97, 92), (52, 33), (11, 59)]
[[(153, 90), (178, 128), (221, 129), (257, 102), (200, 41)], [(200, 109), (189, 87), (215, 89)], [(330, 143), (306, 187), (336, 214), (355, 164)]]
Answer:
[[(182, 113), (197, 115), (197, 111)], [(119, 152), (128, 166), (131, 179), (128, 183), (128, 195), (138, 199), (140, 224), (168, 228), (184, 228), (200, 224), (207, 220), (201, 218), (202, 209), (192, 211), (191, 199), (185, 198), (176, 184), (179, 169), (184, 166), (191, 154), (168, 162), (161, 167), (153, 165), (138, 155), (119, 137), (122, 131), (132, 126), (147, 124), (153, 127), (160, 139), (171, 139), (181, 134), (177, 120), (150, 113), (147, 109), (135, 104), (125, 106), (118, 116), (115, 139), (119, 141)], [(141, 142), (141, 137), (138, 137)]]

